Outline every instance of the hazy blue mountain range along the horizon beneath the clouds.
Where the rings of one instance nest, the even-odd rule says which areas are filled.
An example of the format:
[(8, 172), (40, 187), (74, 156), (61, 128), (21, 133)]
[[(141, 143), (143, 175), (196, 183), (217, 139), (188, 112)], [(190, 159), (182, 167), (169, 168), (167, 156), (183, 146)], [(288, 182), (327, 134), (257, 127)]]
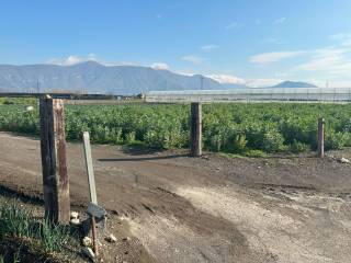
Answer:
[[(281, 87), (282, 85), (282, 87)], [(274, 88), (310, 87), (288, 81)], [(248, 88), (219, 83), (202, 76), (138, 66), (103, 66), (87, 61), (72, 66), (0, 65), (0, 92), (81, 92), (131, 95), (150, 90), (223, 90)]]

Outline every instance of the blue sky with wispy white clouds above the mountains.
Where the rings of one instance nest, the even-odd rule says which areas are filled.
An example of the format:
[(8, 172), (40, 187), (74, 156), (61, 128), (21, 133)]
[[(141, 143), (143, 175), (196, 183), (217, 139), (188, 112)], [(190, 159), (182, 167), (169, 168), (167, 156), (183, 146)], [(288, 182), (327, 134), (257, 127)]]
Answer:
[(351, 87), (350, 0), (0, 0), (0, 64)]

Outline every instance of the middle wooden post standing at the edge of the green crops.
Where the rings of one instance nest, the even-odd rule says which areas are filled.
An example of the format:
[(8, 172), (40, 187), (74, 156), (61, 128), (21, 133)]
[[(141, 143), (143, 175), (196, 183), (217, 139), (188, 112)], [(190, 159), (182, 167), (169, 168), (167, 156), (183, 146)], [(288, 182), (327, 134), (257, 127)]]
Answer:
[(200, 102), (191, 103), (191, 127), (190, 127), (191, 156), (202, 155), (202, 106)]

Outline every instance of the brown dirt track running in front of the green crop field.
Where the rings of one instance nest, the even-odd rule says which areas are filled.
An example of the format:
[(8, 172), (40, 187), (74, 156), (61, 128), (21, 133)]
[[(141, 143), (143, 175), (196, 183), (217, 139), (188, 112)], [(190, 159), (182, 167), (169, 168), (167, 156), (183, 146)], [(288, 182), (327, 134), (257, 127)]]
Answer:
[[(67, 153), (72, 203), (86, 204), (82, 146)], [(349, 261), (351, 164), (185, 153), (92, 149), (100, 203), (157, 262)], [(0, 185), (41, 195), (38, 141), (0, 133)]]

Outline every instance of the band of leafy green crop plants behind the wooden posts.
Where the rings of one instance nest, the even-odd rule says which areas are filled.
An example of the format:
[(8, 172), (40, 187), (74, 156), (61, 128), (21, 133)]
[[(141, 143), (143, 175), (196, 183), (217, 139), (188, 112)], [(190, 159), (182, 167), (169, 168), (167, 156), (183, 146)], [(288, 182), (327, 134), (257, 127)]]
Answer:
[[(171, 104), (66, 105), (66, 136), (88, 130), (95, 144), (189, 147), (190, 106)], [(326, 150), (351, 146), (351, 105), (205, 104), (203, 142), (211, 151), (302, 152), (317, 148), (317, 119), (326, 119)], [(0, 105), (0, 130), (37, 135), (38, 110)]]

